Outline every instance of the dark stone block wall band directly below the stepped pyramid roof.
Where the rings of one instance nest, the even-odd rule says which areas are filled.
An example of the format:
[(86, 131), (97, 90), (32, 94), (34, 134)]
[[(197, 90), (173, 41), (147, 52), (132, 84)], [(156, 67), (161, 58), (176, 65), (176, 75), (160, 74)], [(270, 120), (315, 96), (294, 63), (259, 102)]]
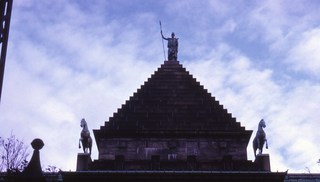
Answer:
[(150, 160), (159, 156), (161, 161), (187, 160), (195, 156), (197, 161), (222, 160), (232, 156), (234, 160), (247, 160), (247, 141), (232, 139), (103, 139), (99, 143), (99, 160)]

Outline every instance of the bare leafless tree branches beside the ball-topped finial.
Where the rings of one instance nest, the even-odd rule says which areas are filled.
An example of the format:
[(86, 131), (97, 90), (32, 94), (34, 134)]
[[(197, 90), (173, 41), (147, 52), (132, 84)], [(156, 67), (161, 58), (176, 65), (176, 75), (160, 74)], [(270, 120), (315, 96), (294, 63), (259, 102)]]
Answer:
[(22, 171), (28, 164), (28, 147), (11, 133), (9, 138), (0, 137), (0, 172)]

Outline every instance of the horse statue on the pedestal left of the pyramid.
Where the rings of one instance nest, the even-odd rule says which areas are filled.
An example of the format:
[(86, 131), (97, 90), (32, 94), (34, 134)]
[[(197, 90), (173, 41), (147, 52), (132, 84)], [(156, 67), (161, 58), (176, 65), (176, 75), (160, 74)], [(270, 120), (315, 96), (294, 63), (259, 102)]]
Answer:
[(87, 122), (84, 118), (81, 119), (80, 126), (82, 127), (82, 131), (79, 139), (79, 148), (81, 148), (81, 145), (80, 145), (80, 142), (81, 142), (83, 152), (88, 153), (88, 150), (89, 150), (89, 154), (91, 154), (92, 138), (90, 136), (90, 131), (88, 129)]

